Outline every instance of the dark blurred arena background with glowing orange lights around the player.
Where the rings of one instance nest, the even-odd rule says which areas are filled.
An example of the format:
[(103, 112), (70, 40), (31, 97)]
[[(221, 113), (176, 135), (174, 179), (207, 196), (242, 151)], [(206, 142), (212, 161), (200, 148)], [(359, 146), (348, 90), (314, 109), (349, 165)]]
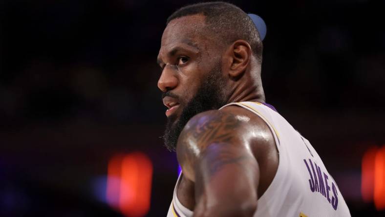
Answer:
[[(267, 103), (353, 217), (384, 216), (384, 1), (231, 2), (267, 24)], [(1, 217), (166, 216), (178, 165), (155, 59), (187, 3), (0, 0)]]

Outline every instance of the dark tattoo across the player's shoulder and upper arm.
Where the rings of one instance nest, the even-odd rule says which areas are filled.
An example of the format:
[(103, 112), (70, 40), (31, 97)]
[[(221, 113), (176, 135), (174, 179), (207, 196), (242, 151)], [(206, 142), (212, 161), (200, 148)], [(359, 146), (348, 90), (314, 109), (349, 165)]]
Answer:
[[(215, 110), (197, 115), (180, 135), (178, 155), (191, 166), (197, 158), (204, 157), (205, 170), (210, 176), (228, 164), (243, 167), (242, 162), (249, 159), (250, 155), (239, 152), (236, 144), (240, 142), (239, 131), (236, 130), (239, 127), (241, 121), (231, 113)], [(196, 148), (199, 152), (194, 151)]]

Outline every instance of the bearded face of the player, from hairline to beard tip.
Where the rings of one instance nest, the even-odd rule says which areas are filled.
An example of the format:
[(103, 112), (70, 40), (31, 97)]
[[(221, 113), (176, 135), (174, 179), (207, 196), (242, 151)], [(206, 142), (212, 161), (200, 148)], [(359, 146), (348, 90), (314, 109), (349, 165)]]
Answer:
[(167, 107), (163, 138), (170, 150), (192, 116), (226, 104), (220, 53), (202, 34), (203, 26), (204, 16), (186, 16), (171, 21), (162, 36), (158, 87)]

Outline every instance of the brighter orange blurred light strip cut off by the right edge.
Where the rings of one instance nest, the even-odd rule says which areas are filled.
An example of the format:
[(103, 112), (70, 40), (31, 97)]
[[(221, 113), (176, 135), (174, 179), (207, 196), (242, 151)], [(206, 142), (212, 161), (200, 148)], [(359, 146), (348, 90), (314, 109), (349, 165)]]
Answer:
[(374, 167), (374, 205), (385, 209), (385, 146), (377, 151)]

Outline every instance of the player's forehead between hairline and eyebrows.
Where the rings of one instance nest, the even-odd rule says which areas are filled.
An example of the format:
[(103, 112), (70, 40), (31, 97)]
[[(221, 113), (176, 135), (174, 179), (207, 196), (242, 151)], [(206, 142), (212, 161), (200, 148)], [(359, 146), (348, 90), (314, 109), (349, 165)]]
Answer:
[(177, 45), (199, 46), (204, 25), (205, 16), (200, 14), (172, 20), (163, 32), (159, 54)]

